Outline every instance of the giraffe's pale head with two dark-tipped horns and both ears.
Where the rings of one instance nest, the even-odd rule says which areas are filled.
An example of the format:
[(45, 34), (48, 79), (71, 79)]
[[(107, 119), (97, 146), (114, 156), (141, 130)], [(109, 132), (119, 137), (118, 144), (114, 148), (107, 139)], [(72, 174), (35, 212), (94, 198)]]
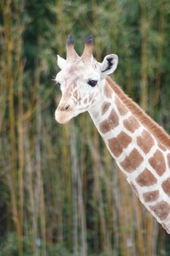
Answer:
[(118, 57), (107, 55), (102, 63), (93, 58), (93, 37), (85, 39), (82, 56), (74, 50), (74, 39), (66, 42), (66, 59), (58, 56), (56, 82), (61, 86), (62, 97), (55, 110), (55, 119), (65, 124), (74, 116), (95, 108), (101, 99), (102, 86), (107, 75), (115, 71)]

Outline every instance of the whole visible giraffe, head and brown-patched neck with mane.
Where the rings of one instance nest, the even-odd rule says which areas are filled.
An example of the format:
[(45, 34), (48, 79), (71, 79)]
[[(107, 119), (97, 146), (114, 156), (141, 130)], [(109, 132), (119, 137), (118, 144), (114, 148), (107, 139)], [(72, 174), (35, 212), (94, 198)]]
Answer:
[(93, 58), (93, 37), (79, 56), (69, 36), (66, 59), (58, 56), (62, 97), (55, 120), (65, 124), (88, 111), (139, 200), (170, 234), (170, 137), (109, 78), (117, 64), (115, 54), (101, 63)]

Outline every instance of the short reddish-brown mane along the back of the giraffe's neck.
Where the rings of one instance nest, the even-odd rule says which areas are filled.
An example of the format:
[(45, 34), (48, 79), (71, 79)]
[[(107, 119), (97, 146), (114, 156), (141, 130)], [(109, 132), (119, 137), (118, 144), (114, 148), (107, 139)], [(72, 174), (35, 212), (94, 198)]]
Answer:
[(107, 77), (106, 80), (111, 89), (115, 91), (117, 96), (120, 97), (125, 106), (131, 110), (131, 113), (138, 118), (141, 124), (149, 129), (152, 135), (154, 135), (163, 146), (170, 149), (170, 136), (164, 131), (164, 129), (152, 120), (152, 118), (150, 118), (150, 116), (148, 116), (147, 113), (145, 113), (144, 110), (136, 104), (136, 102), (128, 97), (110, 77)]

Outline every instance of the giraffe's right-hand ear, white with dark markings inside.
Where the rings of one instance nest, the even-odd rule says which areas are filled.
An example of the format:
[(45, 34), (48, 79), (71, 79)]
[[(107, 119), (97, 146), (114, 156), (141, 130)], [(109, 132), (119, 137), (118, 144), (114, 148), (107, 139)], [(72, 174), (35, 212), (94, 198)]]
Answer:
[(118, 64), (118, 56), (116, 54), (107, 55), (101, 63), (101, 74), (105, 77), (115, 71)]

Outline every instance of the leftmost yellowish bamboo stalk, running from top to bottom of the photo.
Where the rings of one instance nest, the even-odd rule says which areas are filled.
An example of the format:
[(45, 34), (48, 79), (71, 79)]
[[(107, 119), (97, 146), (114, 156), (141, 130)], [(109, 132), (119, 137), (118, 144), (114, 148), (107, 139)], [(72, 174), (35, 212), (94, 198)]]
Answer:
[(11, 142), (11, 161), (12, 161), (12, 189), (11, 189), (11, 200), (12, 200), (12, 214), (13, 220), (15, 223), (15, 228), (18, 236), (18, 254), (23, 254), (22, 248), (22, 231), (20, 227), (20, 221), (18, 216), (18, 206), (17, 206), (17, 149), (16, 149), (16, 136), (15, 136), (15, 106), (14, 106), (14, 74), (12, 71), (12, 54), (14, 51), (14, 38), (12, 35), (12, 3), (11, 1), (4, 1), (3, 3), (3, 20), (4, 20), (4, 29), (8, 33), (4, 34), (5, 42), (5, 52), (7, 59), (7, 88), (9, 88), (9, 137)]

